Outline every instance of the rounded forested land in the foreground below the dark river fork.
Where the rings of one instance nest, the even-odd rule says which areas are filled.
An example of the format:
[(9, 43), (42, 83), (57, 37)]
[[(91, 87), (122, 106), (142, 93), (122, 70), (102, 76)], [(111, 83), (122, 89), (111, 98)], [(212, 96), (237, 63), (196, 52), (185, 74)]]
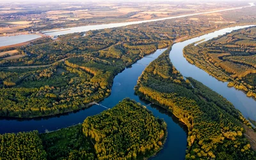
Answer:
[(124, 99), (73, 127), (2, 134), (0, 159), (147, 159), (163, 147), (166, 130), (145, 106)]

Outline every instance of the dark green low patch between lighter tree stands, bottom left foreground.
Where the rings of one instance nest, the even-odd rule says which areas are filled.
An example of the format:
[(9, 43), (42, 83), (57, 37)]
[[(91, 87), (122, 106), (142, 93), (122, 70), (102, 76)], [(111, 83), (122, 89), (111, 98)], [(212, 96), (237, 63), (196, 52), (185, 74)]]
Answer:
[(95, 159), (93, 143), (84, 136), (81, 124), (40, 134), (40, 138), (48, 160)]

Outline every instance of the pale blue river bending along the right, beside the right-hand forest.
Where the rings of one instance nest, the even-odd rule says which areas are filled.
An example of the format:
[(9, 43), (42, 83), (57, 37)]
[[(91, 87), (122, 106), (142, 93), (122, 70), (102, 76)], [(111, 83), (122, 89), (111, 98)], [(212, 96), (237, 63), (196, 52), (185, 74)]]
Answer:
[(232, 102), (232, 104), (234, 104), (234, 106), (239, 109), (239, 111), (241, 111), (241, 113), (246, 118), (252, 118), (252, 120), (256, 120), (256, 100), (254, 100), (252, 97), (247, 97), (246, 93), (244, 93), (242, 90), (237, 90), (234, 87), (230, 88), (227, 86), (227, 82), (223, 83), (221, 81), (218, 81), (216, 78), (207, 74), (207, 72), (205, 72), (204, 70), (196, 67), (195, 65), (191, 65), (183, 56), (183, 49), (184, 47), (186, 47), (186, 45), (204, 39), (204, 41), (210, 40), (211, 38), (217, 37), (219, 35), (224, 35), (225, 33), (230, 33), (233, 30), (246, 27), (250, 26), (236, 26), (232, 28), (220, 29), (218, 31), (214, 31), (213, 33), (198, 36), (196, 38), (174, 44), (172, 47), (172, 51), (170, 52), (170, 59), (175, 68), (177, 68), (177, 70), (179, 70), (183, 76), (193, 77), (194, 79), (205, 84), (205, 86), (208, 86), (209, 88)]

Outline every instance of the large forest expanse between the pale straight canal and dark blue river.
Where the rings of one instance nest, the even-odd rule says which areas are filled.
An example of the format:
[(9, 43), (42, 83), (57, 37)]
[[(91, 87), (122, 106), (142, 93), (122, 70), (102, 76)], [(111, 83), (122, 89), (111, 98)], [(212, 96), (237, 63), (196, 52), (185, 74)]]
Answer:
[(204, 24), (188, 20), (170, 26), (164, 20), (44, 38), (20, 47), (19, 53), (27, 56), (0, 59), (0, 116), (32, 118), (87, 108), (108, 97), (113, 78), (125, 67), (176, 38), (216, 28)]

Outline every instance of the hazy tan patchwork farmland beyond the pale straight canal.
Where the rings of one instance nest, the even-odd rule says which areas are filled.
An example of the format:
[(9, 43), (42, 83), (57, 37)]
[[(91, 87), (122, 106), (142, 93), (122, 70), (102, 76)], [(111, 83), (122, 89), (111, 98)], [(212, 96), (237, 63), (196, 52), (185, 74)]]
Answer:
[[(57, 2), (56, 2), (57, 3)], [(0, 6), (0, 35), (21, 31), (85, 26), (159, 19), (188, 13), (198, 13), (248, 4), (239, 3), (182, 3), (182, 2), (107, 2), (100, 3), (4, 3)], [(195, 20), (195, 19), (194, 19)], [(227, 20), (225, 23), (227, 23)]]

